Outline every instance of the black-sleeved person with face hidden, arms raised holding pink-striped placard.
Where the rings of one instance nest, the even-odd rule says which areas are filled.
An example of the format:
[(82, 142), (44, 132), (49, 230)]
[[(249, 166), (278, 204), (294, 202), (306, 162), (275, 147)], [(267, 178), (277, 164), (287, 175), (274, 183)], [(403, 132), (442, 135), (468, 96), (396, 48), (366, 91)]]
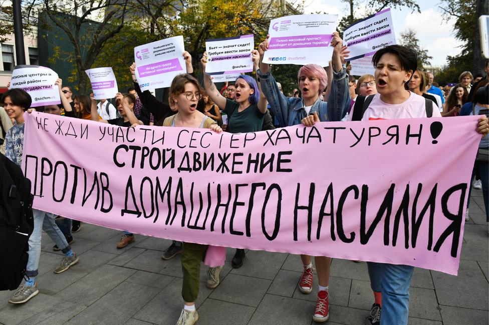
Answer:
[[(185, 68), (187, 73), (192, 74), (193, 73), (192, 56), (187, 51), (184, 51), (182, 53), (182, 56), (183, 59), (185, 60)], [(170, 103), (168, 102), (159, 101), (149, 90), (141, 91), (141, 88), (139, 87), (139, 83), (136, 79), (136, 72), (135, 72), (136, 63), (133, 62), (131, 66), (129, 66), (129, 71), (131, 72), (134, 88), (136, 89), (138, 97), (141, 99), (141, 103), (151, 114), (153, 114), (154, 119), (158, 121), (157, 125), (162, 125), (162, 123), (159, 123), (159, 121), (163, 121), (166, 117), (174, 115), (176, 113), (175, 106), (170, 106)], [(181, 241), (173, 240), (171, 245), (168, 248), (166, 248), (163, 255), (161, 255), (161, 258), (164, 260), (168, 260), (181, 252), (182, 252)]]

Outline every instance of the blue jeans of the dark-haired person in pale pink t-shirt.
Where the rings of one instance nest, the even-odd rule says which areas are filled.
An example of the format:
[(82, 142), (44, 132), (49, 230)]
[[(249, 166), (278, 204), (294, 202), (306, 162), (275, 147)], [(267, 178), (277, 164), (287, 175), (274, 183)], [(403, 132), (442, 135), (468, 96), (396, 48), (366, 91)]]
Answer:
[(382, 292), (380, 325), (407, 325), (414, 266), (367, 262), (372, 290)]

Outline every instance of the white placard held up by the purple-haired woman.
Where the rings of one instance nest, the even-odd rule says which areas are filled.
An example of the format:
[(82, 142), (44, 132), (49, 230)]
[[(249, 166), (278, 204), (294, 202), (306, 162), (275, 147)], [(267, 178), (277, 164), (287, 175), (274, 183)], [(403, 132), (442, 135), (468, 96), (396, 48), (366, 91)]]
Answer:
[[(205, 40), (207, 51), (205, 73), (218, 76), (253, 71), (254, 47), (253, 34)], [(214, 78), (214, 81), (219, 80)]]

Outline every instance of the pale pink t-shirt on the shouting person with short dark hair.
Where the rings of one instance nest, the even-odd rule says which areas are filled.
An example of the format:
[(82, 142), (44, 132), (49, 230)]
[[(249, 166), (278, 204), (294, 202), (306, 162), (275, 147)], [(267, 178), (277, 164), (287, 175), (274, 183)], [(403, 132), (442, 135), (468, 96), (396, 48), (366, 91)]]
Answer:
[[(426, 117), (424, 97), (411, 91), (409, 91), (409, 94), (409, 98), (403, 103), (388, 104), (380, 99), (380, 93), (376, 93), (367, 110), (365, 110), (362, 120)], [(433, 105), (432, 117), (441, 117), (440, 112), (436, 108), (436, 105)], [(353, 117), (353, 109), (348, 116), (348, 120)]]

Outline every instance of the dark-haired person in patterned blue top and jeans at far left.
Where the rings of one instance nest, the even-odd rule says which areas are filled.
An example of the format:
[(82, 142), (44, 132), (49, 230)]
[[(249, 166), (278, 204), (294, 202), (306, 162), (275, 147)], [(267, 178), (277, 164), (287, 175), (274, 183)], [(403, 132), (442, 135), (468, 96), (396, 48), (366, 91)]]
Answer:
[[(9, 89), (4, 93), (2, 102), (9, 117), (15, 119), (14, 126), (7, 132), (5, 155), (21, 166), (24, 148), (24, 111), (30, 108), (32, 99), (25, 90), (15, 88)], [(10, 303), (24, 303), (39, 293), (36, 276), (38, 275), (39, 258), (41, 256), (42, 230), (51, 237), (58, 247), (61, 247), (61, 251), (65, 254), (61, 264), (54, 270), (55, 273), (66, 271), (79, 260), (60, 228), (56, 225), (54, 216), (51, 213), (33, 209), (33, 216), (34, 229), (29, 237), (29, 260), (26, 268), (28, 279), (15, 291), (9, 300)]]

